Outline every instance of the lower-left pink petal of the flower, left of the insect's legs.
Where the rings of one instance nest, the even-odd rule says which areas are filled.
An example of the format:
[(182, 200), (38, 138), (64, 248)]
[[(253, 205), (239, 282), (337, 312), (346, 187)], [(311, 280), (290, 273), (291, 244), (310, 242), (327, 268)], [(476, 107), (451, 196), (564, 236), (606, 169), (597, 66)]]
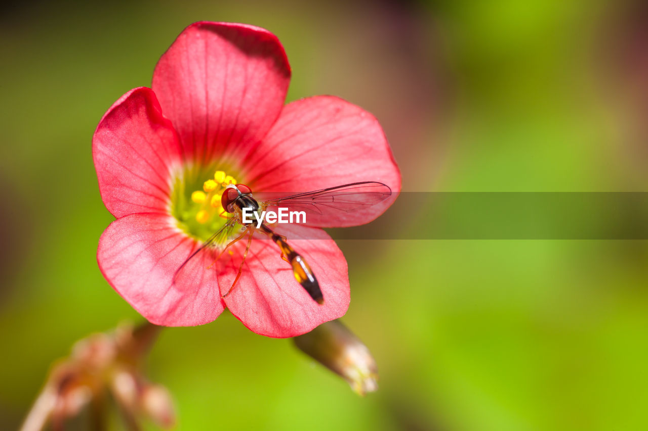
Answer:
[(108, 283), (150, 322), (192, 326), (213, 321), (223, 311), (212, 254), (176, 269), (197, 247), (170, 216), (131, 214), (106, 228), (97, 261)]

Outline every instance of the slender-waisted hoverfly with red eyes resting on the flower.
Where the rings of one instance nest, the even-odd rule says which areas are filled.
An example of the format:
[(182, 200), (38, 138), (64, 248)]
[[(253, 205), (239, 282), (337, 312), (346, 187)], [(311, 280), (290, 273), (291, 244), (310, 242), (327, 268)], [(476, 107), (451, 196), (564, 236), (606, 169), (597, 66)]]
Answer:
[[(243, 258), (238, 267), (238, 274), (232, 283), (231, 287), (223, 297), (226, 297), (234, 289), (238, 282), (243, 270), (243, 263), (248, 256), (248, 251), (252, 243), (253, 234), (261, 232), (268, 236), (274, 243), (277, 244), (281, 251), (281, 258), (288, 262), (292, 267), (292, 272), (295, 276), (297, 283), (301, 285), (310, 295), (310, 297), (318, 302), (324, 303), (324, 297), (319, 288), (318, 280), (313, 273), (312, 269), (307, 263), (304, 256), (297, 253), (289, 244), (286, 237), (277, 234), (269, 223), (262, 220), (262, 217), (249, 217), (249, 212), (256, 212), (257, 214), (265, 212), (267, 208), (289, 208), (291, 210), (301, 210), (307, 215), (307, 220), (310, 220), (311, 225), (318, 225), (318, 220), (325, 217), (334, 216), (340, 212), (353, 212), (361, 210), (366, 206), (380, 203), (391, 195), (391, 189), (382, 182), (363, 181), (353, 182), (351, 184), (344, 184), (341, 186), (323, 188), (313, 192), (297, 193), (294, 195), (284, 197), (270, 197), (270, 199), (257, 201), (253, 197), (252, 191), (245, 184), (229, 184), (225, 189), (221, 204), (224, 208), (224, 215), (228, 218), (227, 223), (220, 228), (216, 233), (210, 236), (202, 245), (194, 251), (183, 263), (180, 265), (174, 280), (178, 273), (187, 265), (194, 256), (208, 247), (225, 243), (229, 239), (236, 225), (242, 225), (240, 234), (220, 251), (216, 260), (229, 247), (240, 241), (240, 239), (248, 237), (248, 244)], [(248, 213), (248, 217), (244, 217), (244, 210)]]

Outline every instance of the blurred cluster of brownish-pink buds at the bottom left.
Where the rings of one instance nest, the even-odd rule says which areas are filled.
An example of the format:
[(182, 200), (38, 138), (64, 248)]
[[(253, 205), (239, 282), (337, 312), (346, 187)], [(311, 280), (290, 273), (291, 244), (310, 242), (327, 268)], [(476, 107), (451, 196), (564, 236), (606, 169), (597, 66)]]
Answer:
[(129, 429), (139, 429), (139, 416), (148, 415), (170, 428), (175, 414), (168, 391), (146, 383), (143, 357), (161, 327), (121, 325), (113, 333), (98, 333), (75, 343), (71, 355), (52, 367), (45, 387), (30, 410), (22, 431), (42, 430), (47, 423), (63, 429), (65, 421), (91, 404), (95, 415), (113, 395)]

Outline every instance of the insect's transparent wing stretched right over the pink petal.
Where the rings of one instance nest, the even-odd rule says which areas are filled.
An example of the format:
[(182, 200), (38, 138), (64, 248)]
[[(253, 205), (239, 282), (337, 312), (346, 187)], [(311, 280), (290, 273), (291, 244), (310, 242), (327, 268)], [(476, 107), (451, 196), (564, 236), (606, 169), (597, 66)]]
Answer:
[[(254, 193), (255, 197), (257, 193)], [(353, 212), (375, 205), (391, 196), (391, 188), (382, 182), (363, 181), (277, 196), (279, 193), (258, 193), (262, 208), (285, 207), (292, 211), (304, 211), (317, 218), (333, 216), (341, 212)]]

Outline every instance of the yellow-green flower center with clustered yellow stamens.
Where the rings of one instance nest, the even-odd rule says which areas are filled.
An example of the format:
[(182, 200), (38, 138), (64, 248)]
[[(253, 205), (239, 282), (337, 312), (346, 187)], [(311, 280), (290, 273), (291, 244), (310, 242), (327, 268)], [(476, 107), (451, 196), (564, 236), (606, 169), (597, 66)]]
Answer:
[[(221, 197), (227, 185), (237, 184), (237, 180), (222, 170), (214, 172), (213, 179), (204, 181), (202, 187), (200, 182), (186, 180), (178, 181), (174, 188), (172, 214), (181, 230), (205, 241), (226, 223), (227, 212), (220, 203)], [(196, 190), (198, 187), (200, 189)]]

